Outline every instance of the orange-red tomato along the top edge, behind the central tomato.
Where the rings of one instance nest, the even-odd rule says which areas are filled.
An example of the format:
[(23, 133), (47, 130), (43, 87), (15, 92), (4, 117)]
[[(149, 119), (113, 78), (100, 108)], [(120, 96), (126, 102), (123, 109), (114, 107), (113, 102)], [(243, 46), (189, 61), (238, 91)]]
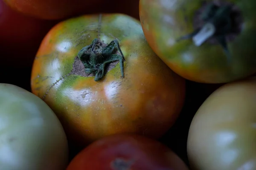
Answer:
[(79, 14), (123, 13), (139, 19), (139, 0), (4, 0), (14, 10), (55, 20)]

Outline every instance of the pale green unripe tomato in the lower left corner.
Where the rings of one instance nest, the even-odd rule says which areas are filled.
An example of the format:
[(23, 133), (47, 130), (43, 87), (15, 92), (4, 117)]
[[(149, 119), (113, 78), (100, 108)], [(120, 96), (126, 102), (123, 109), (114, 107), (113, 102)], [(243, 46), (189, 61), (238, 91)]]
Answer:
[(63, 170), (68, 147), (56, 115), (39, 97), (0, 83), (0, 167), (3, 170)]

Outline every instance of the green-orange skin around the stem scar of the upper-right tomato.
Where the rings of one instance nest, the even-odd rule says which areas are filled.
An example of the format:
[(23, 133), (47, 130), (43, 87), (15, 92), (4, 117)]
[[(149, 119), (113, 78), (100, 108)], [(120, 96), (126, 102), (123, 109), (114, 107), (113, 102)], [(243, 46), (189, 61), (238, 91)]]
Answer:
[(177, 41), (194, 31), (193, 22), (202, 4), (212, 0), (140, 0), (140, 20), (153, 51), (180, 76), (203, 83), (225, 83), (256, 72), (256, 1), (226, 0), (241, 10), (242, 31), (227, 46), (227, 60), (219, 44), (200, 47), (191, 39)]

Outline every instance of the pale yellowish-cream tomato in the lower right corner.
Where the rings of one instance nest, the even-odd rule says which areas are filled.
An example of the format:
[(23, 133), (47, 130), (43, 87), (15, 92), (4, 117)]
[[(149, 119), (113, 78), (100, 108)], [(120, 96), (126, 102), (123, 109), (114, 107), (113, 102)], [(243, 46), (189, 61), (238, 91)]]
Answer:
[(192, 170), (256, 169), (256, 77), (227, 83), (195, 114), (187, 152)]

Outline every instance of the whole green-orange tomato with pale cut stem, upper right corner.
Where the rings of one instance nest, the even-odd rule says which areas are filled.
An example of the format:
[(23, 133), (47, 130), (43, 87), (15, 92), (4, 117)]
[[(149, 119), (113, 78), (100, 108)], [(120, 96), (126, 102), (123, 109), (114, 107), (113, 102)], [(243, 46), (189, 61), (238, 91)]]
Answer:
[(226, 83), (256, 73), (255, 8), (255, 0), (140, 0), (140, 20), (153, 51), (177, 74)]

